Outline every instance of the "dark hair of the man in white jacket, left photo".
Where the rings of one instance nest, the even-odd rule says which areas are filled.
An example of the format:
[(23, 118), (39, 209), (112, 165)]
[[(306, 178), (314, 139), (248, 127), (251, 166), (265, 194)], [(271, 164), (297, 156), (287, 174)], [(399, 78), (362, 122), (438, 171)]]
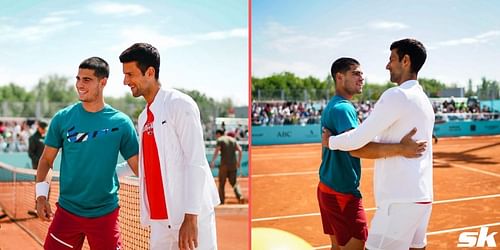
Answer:
[(160, 76), (160, 52), (149, 43), (135, 43), (120, 55), (120, 62), (136, 62), (142, 75), (149, 67), (155, 69), (155, 79)]

